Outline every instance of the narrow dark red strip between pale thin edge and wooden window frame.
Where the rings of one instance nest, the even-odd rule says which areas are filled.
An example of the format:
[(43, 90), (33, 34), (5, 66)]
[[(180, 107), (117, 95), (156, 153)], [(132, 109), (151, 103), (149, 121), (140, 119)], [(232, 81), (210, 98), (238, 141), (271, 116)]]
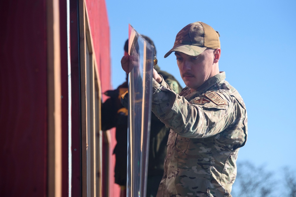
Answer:
[(72, 135), (72, 194), (82, 195), (81, 166), (81, 92), (80, 92), (80, 52), (78, 29), (78, 0), (70, 1), (70, 63), (71, 63), (71, 135)]

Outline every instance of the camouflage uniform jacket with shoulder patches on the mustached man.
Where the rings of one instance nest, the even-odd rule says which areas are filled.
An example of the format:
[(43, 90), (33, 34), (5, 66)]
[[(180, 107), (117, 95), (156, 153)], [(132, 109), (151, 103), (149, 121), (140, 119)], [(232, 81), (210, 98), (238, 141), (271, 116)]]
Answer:
[(152, 111), (171, 129), (157, 197), (231, 196), (237, 153), (247, 140), (247, 112), (224, 79), (221, 72), (179, 95), (153, 79)]

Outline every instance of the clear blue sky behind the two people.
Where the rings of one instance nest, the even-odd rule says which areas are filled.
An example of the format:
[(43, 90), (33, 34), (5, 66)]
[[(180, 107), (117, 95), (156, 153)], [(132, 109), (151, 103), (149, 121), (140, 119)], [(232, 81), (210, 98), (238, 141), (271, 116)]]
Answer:
[(176, 34), (202, 21), (220, 33), (220, 71), (244, 99), (248, 140), (238, 161), (268, 170), (296, 168), (296, 1), (106, 0), (110, 25), (112, 86), (125, 80), (120, 60), (128, 24), (150, 37), (158, 64), (185, 86), (176, 57), (163, 58)]

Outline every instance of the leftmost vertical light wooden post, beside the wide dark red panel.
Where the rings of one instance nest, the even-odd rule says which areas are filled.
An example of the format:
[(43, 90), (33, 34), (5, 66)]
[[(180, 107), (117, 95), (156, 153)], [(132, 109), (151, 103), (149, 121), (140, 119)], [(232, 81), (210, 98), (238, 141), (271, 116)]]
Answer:
[(62, 194), (59, 0), (47, 2), (48, 196)]

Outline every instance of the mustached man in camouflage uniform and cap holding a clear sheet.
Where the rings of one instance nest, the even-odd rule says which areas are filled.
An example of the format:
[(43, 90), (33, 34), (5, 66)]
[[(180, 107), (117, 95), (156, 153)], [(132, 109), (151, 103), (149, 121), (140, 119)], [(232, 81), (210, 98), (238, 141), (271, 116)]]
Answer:
[[(219, 71), (219, 37), (202, 22), (177, 34), (165, 58), (175, 52), (186, 84), (181, 93), (174, 93), (153, 71), (152, 111), (170, 128), (157, 197), (231, 196), (237, 154), (247, 140), (247, 111), (242, 97)], [(128, 58), (122, 59), (126, 72)]]

